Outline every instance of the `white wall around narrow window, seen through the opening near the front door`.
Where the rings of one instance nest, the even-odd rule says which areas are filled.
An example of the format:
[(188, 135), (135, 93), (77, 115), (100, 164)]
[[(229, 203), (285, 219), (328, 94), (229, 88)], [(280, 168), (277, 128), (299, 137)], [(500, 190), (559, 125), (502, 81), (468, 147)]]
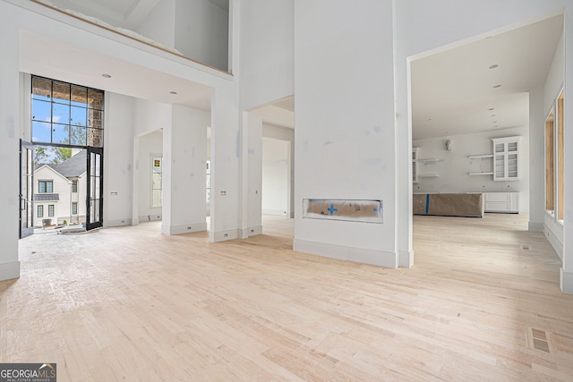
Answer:
[(156, 131), (139, 138), (137, 189), (139, 221), (161, 220), (161, 207), (151, 206), (152, 156), (163, 156), (163, 132)]

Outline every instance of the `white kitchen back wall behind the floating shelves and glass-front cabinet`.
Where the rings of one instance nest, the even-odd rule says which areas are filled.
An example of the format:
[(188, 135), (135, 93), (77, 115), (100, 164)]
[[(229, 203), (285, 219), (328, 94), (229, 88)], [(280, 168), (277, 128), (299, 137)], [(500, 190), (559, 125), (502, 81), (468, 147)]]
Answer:
[[(492, 154), (492, 138), (520, 136), (519, 180), (494, 182), (493, 175), (470, 176), (468, 173), (492, 172), (493, 159), (470, 159), (469, 156)], [(495, 132), (452, 135), (413, 140), (420, 159), (435, 158), (438, 162), (418, 162), (418, 174), (438, 174), (420, 177), (414, 192), (519, 192), (519, 212), (529, 212), (529, 129), (528, 126)], [(446, 150), (451, 140), (451, 151)]]

